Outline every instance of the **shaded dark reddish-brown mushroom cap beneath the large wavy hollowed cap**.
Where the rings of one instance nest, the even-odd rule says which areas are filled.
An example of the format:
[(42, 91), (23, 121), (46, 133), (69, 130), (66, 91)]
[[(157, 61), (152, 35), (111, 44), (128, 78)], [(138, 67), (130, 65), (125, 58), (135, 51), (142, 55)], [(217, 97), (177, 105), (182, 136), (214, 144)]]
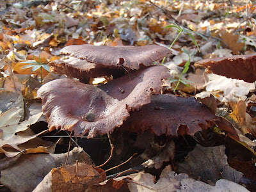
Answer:
[[(196, 102), (194, 97), (184, 98), (171, 94), (152, 95), (151, 102), (139, 111), (131, 112), (120, 129), (138, 134), (148, 130), (157, 136), (176, 135), (180, 126), (187, 134), (209, 127), (209, 122), (220, 120), (211, 110)], [(184, 131), (183, 131), (184, 132)]]

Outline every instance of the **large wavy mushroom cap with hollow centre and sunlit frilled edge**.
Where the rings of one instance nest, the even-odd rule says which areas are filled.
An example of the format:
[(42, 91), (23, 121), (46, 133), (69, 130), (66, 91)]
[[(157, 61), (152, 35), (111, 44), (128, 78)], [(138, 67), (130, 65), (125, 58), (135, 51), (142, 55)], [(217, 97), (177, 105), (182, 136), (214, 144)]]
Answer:
[(163, 79), (168, 77), (168, 68), (156, 65), (99, 87), (73, 79), (58, 79), (44, 84), (38, 90), (38, 97), (42, 98), (50, 131), (74, 130), (76, 135), (88, 133), (92, 138), (122, 125), (129, 111), (148, 104), (150, 95), (161, 93)]

